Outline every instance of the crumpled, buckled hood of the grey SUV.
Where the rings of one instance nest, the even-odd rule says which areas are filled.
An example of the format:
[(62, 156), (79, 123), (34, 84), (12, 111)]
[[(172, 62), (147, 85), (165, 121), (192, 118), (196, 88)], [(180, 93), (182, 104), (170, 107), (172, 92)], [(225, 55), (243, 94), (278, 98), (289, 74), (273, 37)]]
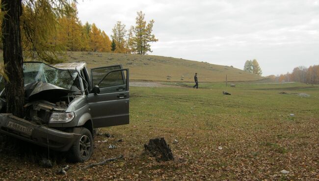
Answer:
[(25, 94), (27, 98), (35, 98), (36, 96), (64, 96), (73, 91), (55, 86), (46, 82), (34, 82), (25, 86)]

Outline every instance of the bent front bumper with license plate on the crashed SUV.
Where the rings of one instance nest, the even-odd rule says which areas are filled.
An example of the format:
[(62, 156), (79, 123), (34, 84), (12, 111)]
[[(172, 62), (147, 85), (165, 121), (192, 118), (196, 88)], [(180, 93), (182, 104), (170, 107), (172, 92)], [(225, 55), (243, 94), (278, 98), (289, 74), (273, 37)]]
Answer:
[(0, 114), (0, 133), (56, 151), (68, 151), (80, 134), (37, 125), (12, 114)]

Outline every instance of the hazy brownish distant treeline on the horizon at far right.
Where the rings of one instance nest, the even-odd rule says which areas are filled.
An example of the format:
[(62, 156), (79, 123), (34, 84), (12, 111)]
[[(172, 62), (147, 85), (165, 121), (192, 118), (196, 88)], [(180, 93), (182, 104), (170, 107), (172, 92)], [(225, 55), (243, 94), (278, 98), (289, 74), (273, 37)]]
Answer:
[(279, 76), (269, 75), (267, 78), (277, 82), (301, 82), (306, 84), (319, 84), (319, 65), (295, 67), (292, 73), (281, 74)]

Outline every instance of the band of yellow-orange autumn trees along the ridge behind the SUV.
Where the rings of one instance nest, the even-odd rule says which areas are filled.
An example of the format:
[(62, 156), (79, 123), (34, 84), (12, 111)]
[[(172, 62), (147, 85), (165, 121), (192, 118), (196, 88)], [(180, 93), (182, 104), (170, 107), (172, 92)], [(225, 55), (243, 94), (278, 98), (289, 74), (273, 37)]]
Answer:
[(154, 20), (146, 23), (142, 11), (137, 12), (135, 26), (126, 30), (118, 21), (109, 37), (94, 23), (82, 24), (75, 3), (62, 16), (53, 14), (50, 7), (50, 3), (40, 1), (23, 4), (20, 27), (24, 57), (53, 62), (48, 59), (57, 59), (56, 55), (65, 51), (146, 54), (152, 52), (150, 42), (158, 41), (152, 34)]

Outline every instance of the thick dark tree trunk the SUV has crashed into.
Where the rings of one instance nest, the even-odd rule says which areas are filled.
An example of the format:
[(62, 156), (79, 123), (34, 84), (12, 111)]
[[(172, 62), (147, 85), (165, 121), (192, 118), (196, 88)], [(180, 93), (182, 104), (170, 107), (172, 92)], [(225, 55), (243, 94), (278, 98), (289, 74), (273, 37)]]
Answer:
[(24, 117), (23, 57), (21, 45), (20, 16), (21, 0), (2, 0), (3, 62), (8, 80), (5, 81), (6, 111)]

